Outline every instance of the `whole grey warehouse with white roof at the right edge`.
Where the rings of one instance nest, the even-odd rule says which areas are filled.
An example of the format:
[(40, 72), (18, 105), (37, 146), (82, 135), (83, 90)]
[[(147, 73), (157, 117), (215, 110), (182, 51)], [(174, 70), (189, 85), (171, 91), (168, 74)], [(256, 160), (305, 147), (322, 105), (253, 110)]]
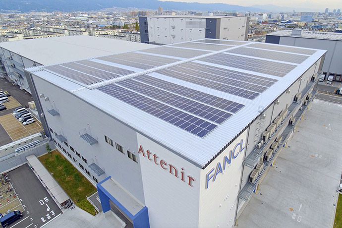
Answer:
[(342, 34), (332, 32), (282, 30), (266, 35), (266, 43), (327, 50), (322, 71), (342, 82)]

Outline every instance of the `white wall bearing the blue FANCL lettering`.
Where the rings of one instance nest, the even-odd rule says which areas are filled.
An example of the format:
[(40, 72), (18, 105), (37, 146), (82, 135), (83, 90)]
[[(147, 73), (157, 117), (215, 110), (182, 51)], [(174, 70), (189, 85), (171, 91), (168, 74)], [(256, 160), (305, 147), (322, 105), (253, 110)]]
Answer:
[[(245, 149), (231, 158), (231, 164), (226, 163), (226, 169), (223, 173), (219, 172), (218, 164), (224, 169), (224, 158), (229, 158), (230, 151), (236, 152), (240, 150), (239, 143), (242, 141), (243, 147), (246, 147), (247, 131), (245, 130), (237, 139), (235, 139), (208, 167), (201, 170), (200, 184), (200, 228), (217, 228), (217, 227), (234, 227), (235, 213), (237, 208), (237, 195), (239, 193), (240, 178), (242, 172), (242, 162), (244, 159)], [(243, 148), (242, 147), (242, 148)], [(210, 147), (209, 147), (210, 148)], [(206, 188), (206, 176), (214, 169), (211, 174), (216, 175), (210, 179), (208, 188)], [(211, 175), (209, 174), (209, 175)]]

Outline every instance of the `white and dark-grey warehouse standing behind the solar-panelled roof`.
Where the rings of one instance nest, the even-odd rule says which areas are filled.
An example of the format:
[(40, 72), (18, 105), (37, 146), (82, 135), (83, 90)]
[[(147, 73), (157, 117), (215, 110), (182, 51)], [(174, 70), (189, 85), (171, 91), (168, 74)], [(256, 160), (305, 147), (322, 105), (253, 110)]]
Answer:
[(249, 17), (139, 16), (140, 40), (149, 44), (174, 44), (204, 38), (247, 40)]

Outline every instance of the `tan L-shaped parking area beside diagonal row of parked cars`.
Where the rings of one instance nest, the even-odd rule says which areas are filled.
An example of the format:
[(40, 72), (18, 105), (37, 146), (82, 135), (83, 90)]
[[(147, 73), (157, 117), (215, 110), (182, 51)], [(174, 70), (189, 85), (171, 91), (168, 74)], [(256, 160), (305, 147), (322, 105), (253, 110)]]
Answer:
[(0, 116), (0, 124), (9, 137), (15, 141), (43, 130), (41, 123), (36, 118), (34, 119), (36, 122), (24, 126), (10, 113)]

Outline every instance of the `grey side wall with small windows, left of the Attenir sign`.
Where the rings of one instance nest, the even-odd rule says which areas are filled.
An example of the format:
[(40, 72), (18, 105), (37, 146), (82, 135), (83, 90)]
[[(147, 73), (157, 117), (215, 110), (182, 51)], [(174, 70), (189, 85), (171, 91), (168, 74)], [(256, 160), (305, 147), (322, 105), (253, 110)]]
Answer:
[[(101, 181), (106, 176), (111, 175), (123, 188), (130, 192), (140, 202), (144, 203), (144, 192), (142, 188), (142, 177), (140, 171), (140, 161), (134, 162), (127, 156), (127, 150), (137, 155), (136, 132), (125, 124), (116, 121), (108, 114), (90, 106), (72, 94), (63, 91), (51, 83), (33, 76), (38, 94), (43, 93), (49, 97), (49, 101), (39, 98), (42, 104), (48, 125), (53, 129), (53, 139), (61, 146), (59, 148), (65, 157), (69, 153), (75, 161), (73, 165), (88, 175), (79, 167), (80, 163), (85, 169), (90, 171), (90, 177), (94, 176)], [(67, 102), (66, 102), (67, 101)], [(52, 116), (47, 109), (57, 109), (59, 115)], [(87, 129), (91, 135), (97, 137), (99, 143), (91, 146), (80, 137), (80, 130)], [(62, 134), (68, 146), (58, 141), (55, 133)], [(113, 140), (113, 146), (105, 141), (105, 135)], [(115, 142), (124, 148), (124, 154), (115, 148)], [(88, 165), (78, 157), (70, 146), (77, 151), (80, 156), (87, 159), (88, 165), (95, 163), (106, 173), (97, 176)], [(65, 153), (64, 152), (64, 150)], [(138, 157), (139, 158), (139, 157)], [(123, 174), (123, 173), (126, 173)], [(89, 175), (88, 175), (89, 176)], [(92, 179), (92, 178), (91, 178)], [(94, 182), (94, 180), (93, 180)]]

